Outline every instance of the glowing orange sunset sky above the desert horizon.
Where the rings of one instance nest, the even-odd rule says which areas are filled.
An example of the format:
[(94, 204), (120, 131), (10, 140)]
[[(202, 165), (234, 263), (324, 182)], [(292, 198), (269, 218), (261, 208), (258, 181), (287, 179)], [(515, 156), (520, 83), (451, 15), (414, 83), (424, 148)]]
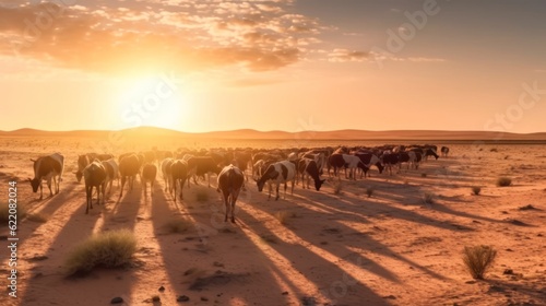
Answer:
[(546, 1), (0, 1), (0, 130), (546, 131)]

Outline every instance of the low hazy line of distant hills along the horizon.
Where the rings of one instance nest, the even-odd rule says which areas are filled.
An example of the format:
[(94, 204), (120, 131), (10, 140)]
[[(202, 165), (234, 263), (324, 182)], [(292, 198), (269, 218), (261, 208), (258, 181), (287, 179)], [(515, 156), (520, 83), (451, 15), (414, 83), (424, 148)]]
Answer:
[(546, 132), (509, 133), (490, 131), (441, 131), (441, 130), (336, 130), (336, 131), (257, 131), (240, 129), (233, 131), (213, 131), (188, 133), (176, 130), (138, 127), (120, 131), (105, 130), (74, 130), (74, 131), (44, 131), (36, 129), (19, 129), (0, 131), (3, 137), (108, 137), (112, 132), (122, 132), (129, 138), (186, 138), (186, 139), (317, 139), (317, 140), (546, 140)]

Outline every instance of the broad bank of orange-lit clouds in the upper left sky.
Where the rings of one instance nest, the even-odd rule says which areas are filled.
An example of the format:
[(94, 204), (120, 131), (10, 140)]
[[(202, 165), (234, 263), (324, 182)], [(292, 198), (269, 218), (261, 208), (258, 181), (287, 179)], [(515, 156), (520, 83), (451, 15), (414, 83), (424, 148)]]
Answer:
[[(74, 2), (74, 5), (63, 3)], [(56, 1), (0, 7), (0, 55), (100, 73), (276, 70), (319, 42), (292, 0)], [(116, 7), (118, 4), (118, 7)], [(93, 7), (94, 5), (94, 7)]]

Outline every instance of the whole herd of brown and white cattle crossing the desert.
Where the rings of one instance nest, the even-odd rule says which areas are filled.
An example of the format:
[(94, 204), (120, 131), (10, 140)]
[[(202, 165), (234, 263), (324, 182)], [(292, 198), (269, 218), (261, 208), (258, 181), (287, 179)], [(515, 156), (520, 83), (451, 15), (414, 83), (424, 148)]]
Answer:
[[(407, 168), (417, 169), (419, 163), (434, 156), (438, 160), (438, 148), (436, 145), (382, 145), (375, 148), (366, 146), (340, 146), (321, 149), (294, 149), (294, 150), (210, 150), (210, 151), (147, 151), (142, 153), (124, 153), (117, 160), (111, 154), (88, 153), (78, 157), (78, 170), (74, 172), (76, 180), (84, 179), (86, 192), (86, 209), (93, 209), (92, 197), (93, 187), (97, 191), (97, 204), (105, 202), (105, 191), (111, 191), (114, 180), (121, 180), (119, 197), (123, 196), (126, 183), (132, 190), (136, 176), (143, 185), (145, 195), (147, 195), (147, 185), (150, 184), (153, 195), (154, 181), (157, 172), (162, 172), (165, 181), (165, 191), (168, 191), (175, 202), (177, 196), (181, 200), (183, 197), (183, 187), (187, 183), (190, 188), (190, 180), (198, 184), (197, 178), (206, 176), (210, 184), (210, 175), (217, 176), (217, 191), (222, 192), (226, 204), (225, 221), (228, 219), (228, 212), (232, 211), (232, 222), (235, 222), (233, 215), (235, 202), (245, 181), (248, 181), (248, 173), (257, 181), (258, 190), (262, 191), (265, 183), (269, 183), (269, 198), (271, 198), (272, 185), (276, 187), (276, 197), (278, 199), (278, 188), (284, 184), (286, 196), (287, 183), (292, 183), (292, 192), (294, 185), (301, 179), (304, 188), (309, 188), (310, 180), (314, 183), (317, 191), (320, 190), (325, 179), (321, 179), (324, 172), (331, 176), (339, 176), (339, 169), (345, 170), (345, 178), (356, 179), (369, 176), (371, 166), (377, 167), (379, 174), (388, 169), (392, 175), (392, 169), (401, 169), (402, 164), (406, 163)], [(442, 156), (447, 157), (449, 148), (441, 148)], [(41, 181), (46, 180), (50, 196), (51, 180), (56, 193), (59, 193), (59, 186), (64, 168), (64, 157), (60, 153), (41, 156), (34, 162), (34, 179), (28, 178), (33, 191), (40, 189), (40, 199), (43, 199)], [(348, 174), (347, 174), (348, 169)], [(118, 183), (119, 185), (119, 183)], [(178, 190), (179, 189), (179, 190)], [(178, 193), (177, 193), (178, 191)]]

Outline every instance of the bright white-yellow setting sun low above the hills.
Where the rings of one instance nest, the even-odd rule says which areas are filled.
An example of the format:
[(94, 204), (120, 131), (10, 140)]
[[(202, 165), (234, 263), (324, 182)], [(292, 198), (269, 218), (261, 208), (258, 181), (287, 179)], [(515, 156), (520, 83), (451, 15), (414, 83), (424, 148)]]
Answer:
[(181, 130), (192, 105), (182, 83), (167, 75), (128, 78), (120, 81), (118, 110), (121, 128), (151, 126)]

